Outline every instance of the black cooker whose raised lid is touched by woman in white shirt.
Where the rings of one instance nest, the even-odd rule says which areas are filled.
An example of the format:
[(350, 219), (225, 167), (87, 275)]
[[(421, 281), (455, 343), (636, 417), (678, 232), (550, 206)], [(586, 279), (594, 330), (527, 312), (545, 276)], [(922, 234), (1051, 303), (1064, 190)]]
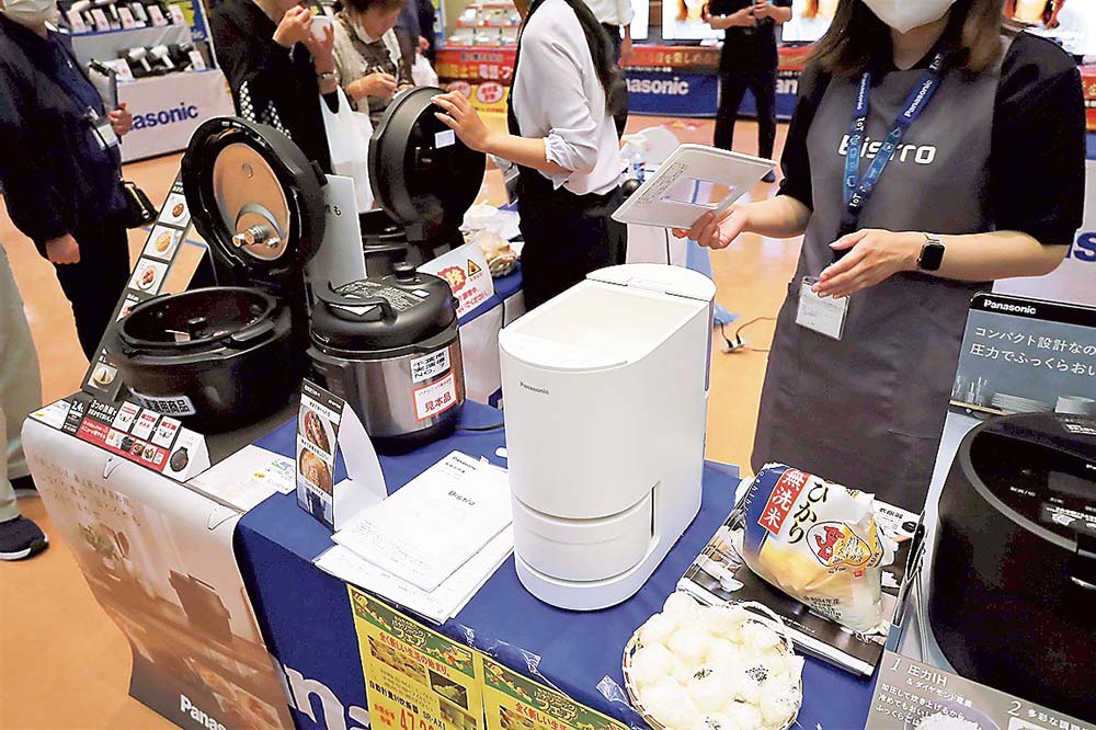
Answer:
[(434, 116), (441, 109), (431, 100), (442, 93), (419, 87), (398, 94), (369, 141), (369, 184), (378, 206), (361, 217), (369, 276), (464, 243), (460, 224), (479, 196), (486, 156)]

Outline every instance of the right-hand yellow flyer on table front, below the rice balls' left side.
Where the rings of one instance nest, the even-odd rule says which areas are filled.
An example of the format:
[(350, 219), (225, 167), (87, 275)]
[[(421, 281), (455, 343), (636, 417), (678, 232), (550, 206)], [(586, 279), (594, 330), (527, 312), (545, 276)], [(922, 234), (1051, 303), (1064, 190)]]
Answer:
[(478, 654), (483, 663), (483, 706), (489, 730), (628, 730), (567, 695), (511, 672)]

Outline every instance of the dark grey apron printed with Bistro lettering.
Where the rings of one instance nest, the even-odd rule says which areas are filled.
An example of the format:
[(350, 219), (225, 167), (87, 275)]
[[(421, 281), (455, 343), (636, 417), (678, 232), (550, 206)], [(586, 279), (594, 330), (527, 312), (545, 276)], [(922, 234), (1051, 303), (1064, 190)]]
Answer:
[[(867, 136), (886, 138), (922, 69), (871, 90)], [(1000, 62), (943, 83), (887, 167), (859, 228), (978, 233), (993, 229), (989, 160)], [(783, 461), (921, 511), (932, 481), (970, 299), (991, 283), (900, 273), (849, 299), (844, 337), (796, 323), (801, 281), (831, 263), (844, 149), (859, 79), (833, 79), (808, 134), (814, 213), (777, 320), (752, 464)], [(865, 157), (871, 153), (865, 142)], [(874, 157), (874, 155), (872, 155)], [(869, 160), (861, 161), (861, 173)]]

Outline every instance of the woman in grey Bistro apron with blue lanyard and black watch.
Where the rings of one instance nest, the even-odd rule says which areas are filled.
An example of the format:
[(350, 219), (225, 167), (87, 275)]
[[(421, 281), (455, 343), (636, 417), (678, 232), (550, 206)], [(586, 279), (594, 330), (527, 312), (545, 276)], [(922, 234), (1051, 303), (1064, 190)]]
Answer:
[(1003, 32), (1003, 3), (841, 0), (800, 81), (780, 194), (689, 231), (712, 248), (806, 232), (755, 469), (785, 461), (920, 510), (971, 296), (1052, 271), (1072, 243), (1078, 72)]

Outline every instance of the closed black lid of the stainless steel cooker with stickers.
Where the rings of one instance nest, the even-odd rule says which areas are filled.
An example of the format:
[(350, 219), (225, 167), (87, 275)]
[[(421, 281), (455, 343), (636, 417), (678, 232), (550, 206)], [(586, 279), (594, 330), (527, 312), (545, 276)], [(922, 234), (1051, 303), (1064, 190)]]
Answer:
[(442, 278), (397, 264), (380, 278), (316, 293), (312, 341), (329, 353), (369, 358), (399, 356), (434, 338), (456, 337), (457, 306)]

